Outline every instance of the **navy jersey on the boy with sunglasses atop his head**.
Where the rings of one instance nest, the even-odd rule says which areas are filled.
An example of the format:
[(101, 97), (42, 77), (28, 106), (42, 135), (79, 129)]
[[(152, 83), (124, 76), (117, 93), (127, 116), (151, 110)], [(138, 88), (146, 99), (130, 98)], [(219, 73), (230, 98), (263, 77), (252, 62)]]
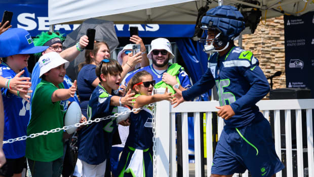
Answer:
[[(113, 91), (117, 94), (117, 91)], [(88, 120), (113, 115), (110, 95), (100, 84), (92, 93), (88, 104)], [(117, 129), (116, 118), (94, 122), (78, 131), (78, 158), (97, 165), (109, 158), (113, 132)]]

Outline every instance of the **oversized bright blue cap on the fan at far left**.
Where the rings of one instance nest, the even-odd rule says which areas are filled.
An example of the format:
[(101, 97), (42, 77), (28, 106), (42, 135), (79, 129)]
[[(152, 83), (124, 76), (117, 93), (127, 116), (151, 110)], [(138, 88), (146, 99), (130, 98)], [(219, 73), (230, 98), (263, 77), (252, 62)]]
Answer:
[(23, 28), (10, 28), (0, 34), (0, 57), (43, 52), (49, 46), (34, 46), (30, 34)]

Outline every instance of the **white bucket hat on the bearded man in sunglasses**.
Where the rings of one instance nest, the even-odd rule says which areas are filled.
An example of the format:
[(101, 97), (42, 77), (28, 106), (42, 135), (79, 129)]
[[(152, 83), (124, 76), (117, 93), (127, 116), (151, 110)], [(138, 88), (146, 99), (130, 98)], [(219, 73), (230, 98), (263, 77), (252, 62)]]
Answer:
[(157, 38), (155, 40), (152, 40), (151, 43), (151, 49), (149, 53), (147, 54), (147, 57), (149, 59), (152, 59), (152, 53), (151, 51), (157, 49), (157, 50), (167, 50), (170, 53), (169, 59), (174, 58), (174, 54), (172, 53), (171, 44), (170, 42), (165, 38)]

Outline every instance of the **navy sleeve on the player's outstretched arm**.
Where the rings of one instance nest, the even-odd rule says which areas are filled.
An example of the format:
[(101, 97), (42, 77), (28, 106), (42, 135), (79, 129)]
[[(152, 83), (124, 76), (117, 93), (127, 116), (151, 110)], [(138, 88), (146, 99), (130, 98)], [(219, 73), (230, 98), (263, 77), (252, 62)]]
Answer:
[(195, 83), (190, 89), (182, 92), (184, 100), (191, 100), (211, 89), (215, 85), (215, 79), (211, 73), (211, 69), (207, 68), (202, 78)]

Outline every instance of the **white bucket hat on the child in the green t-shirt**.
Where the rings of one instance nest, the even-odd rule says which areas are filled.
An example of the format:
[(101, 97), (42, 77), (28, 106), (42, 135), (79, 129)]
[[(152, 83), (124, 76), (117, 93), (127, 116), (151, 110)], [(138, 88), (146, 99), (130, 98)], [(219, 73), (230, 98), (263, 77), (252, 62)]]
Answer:
[(69, 66), (69, 62), (63, 59), (57, 52), (49, 52), (44, 54), (38, 60), (38, 64), (40, 65), (41, 72), (40, 76), (42, 77), (45, 73), (49, 72), (50, 69), (60, 66), (65, 63), (65, 68)]

